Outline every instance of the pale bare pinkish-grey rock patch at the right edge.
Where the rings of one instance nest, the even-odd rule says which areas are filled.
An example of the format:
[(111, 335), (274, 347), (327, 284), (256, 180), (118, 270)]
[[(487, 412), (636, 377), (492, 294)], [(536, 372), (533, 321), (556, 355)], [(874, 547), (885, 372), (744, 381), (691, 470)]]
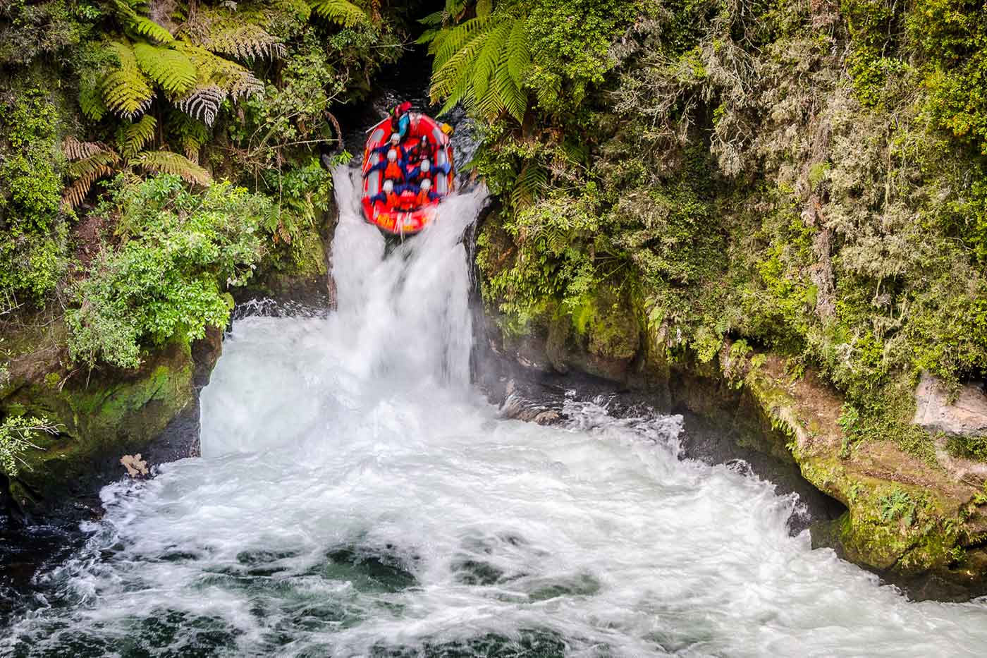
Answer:
[(983, 383), (967, 383), (951, 396), (931, 374), (923, 374), (915, 389), (912, 421), (931, 432), (957, 436), (987, 434), (987, 394)]

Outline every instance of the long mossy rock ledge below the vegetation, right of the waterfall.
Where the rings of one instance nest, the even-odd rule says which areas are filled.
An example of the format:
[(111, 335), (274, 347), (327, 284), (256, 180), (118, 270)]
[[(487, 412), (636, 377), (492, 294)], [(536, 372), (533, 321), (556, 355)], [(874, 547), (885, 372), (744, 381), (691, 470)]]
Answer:
[[(506, 242), (506, 251), (490, 246), (497, 227), (483, 230), (484, 256), (509, 261)], [(682, 347), (694, 337), (649, 323), (633, 295), (613, 288), (587, 293), (574, 309), (545, 304), (524, 329), (489, 315), (488, 342), (523, 367), (645, 389), (659, 409), (698, 414), (744, 449), (797, 464), (846, 508), (811, 528), (815, 546), (835, 548), (914, 598), (964, 600), (987, 589), (982, 469), (946, 451), (923, 458), (894, 437), (855, 437), (845, 400), (811, 369), (790, 371), (784, 359), (742, 342), (697, 354)]]

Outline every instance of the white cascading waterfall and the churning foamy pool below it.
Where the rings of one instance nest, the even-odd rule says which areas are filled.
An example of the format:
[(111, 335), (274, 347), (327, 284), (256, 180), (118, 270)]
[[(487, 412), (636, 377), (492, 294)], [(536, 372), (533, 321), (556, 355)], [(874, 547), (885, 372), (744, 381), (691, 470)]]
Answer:
[(38, 576), (17, 656), (976, 655), (982, 605), (911, 604), (786, 519), (797, 501), (680, 460), (678, 417), (498, 419), (469, 386), (463, 229), (386, 253), (335, 173), (339, 310), (236, 322), (202, 457), (103, 492)]

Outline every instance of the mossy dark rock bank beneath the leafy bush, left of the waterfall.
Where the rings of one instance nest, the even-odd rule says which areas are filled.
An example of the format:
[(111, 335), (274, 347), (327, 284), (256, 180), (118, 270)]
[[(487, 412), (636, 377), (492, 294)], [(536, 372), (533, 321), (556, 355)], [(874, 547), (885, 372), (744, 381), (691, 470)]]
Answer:
[[(16, 511), (44, 516), (73, 499), (91, 496), (123, 476), (119, 459), (140, 452), (148, 467), (198, 453), (197, 388), (218, 359), (220, 333), (188, 346), (174, 342), (147, 357), (138, 370), (68, 370), (56, 347), (64, 327), (26, 328), (5, 347), (13, 352), (10, 380), (0, 389), (0, 415), (46, 417), (56, 435), (36, 433), (40, 450), (23, 454), (13, 478), (3, 478)], [(194, 354), (194, 357), (193, 357)], [(180, 431), (190, 415), (190, 431)], [(170, 424), (181, 436), (159, 441)], [(188, 428), (186, 428), (188, 430)]]

